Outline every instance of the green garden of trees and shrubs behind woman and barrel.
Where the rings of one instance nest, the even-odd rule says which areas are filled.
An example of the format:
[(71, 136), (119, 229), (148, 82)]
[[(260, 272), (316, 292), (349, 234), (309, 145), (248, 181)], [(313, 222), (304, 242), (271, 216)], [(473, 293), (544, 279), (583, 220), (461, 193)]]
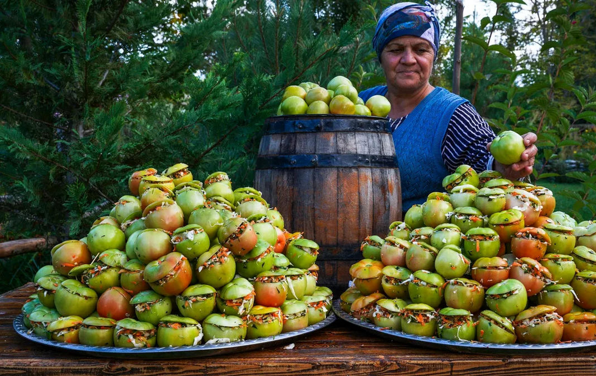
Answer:
[[(145, 167), (183, 161), (198, 179), (223, 170), (252, 185), (285, 86), (383, 81), (371, 39), (393, 1), (214, 2), (0, 1), (0, 241), (85, 236)], [(596, 0), (476, 7), (489, 3), (464, 20), (461, 95), (495, 132), (537, 133), (532, 182), (594, 219)], [(431, 83), (451, 89), (455, 6), (436, 5)], [(0, 292), (48, 262), (0, 259)]]

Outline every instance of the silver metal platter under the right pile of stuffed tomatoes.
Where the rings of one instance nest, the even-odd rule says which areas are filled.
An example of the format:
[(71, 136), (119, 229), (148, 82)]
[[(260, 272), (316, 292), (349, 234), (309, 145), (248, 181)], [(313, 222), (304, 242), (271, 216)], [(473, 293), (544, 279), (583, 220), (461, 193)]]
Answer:
[(400, 341), (401, 343), (414, 344), (416, 346), (430, 347), (431, 349), (437, 350), (449, 350), (452, 352), (488, 355), (541, 355), (596, 350), (596, 341), (576, 341), (571, 343), (555, 344), (498, 344), (482, 343), (477, 341), (443, 340), (441, 338), (435, 337), (423, 337), (421, 335), (406, 334), (396, 330), (381, 330), (381, 328), (377, 327), (377, 325), (371, 324), (370, 322), (360, 321), (344, 312), (340, 307), (339, 299), (336, 299), (333, 302), (333, 312), (335, 312), (336, 315), (344, 321), (378, 335), (379, 337)]

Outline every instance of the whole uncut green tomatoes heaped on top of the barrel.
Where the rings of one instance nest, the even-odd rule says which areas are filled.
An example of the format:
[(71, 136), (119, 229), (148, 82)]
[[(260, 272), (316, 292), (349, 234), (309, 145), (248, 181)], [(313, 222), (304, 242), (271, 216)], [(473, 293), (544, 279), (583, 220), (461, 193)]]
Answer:
[(277, 115), (336, 114), (386, 117), (391, 110), (383, 95), (373, 95), (365, 103), (350, 79), (333, 77), (322, 88), (318, 83), (301, 82), (284, 90)]

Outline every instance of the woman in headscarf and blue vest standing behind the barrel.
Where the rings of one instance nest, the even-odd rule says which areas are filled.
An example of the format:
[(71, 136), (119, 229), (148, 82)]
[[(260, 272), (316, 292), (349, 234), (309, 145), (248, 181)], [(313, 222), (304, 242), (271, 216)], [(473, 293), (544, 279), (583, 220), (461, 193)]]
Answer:
[(402, 178), (403, 208), (442, 191), (444, 176), (460, 164), (477, 172), (498, 170), (519, 179), (532, 172), (536, 135), (523, 135), (526, 150), (519, 163), (503, 165), (489, 153), (495, 138), (490, 126), (464, 98), (429, 83), (439, 46), (439, 23), (427, 5), (402, 2), (383, 11), (373, 46), (387, 85), (361, 91), (367, 101), (384, 95)]

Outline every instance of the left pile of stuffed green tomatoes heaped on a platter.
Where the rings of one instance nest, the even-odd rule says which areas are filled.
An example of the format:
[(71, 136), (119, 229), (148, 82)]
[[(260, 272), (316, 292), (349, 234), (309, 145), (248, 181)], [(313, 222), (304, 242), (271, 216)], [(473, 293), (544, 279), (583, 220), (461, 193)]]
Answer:
[(225, 343), (300, 330), (330, 312), (316, 286), (319, 246), (284, 230), (254, 188), (232, 190), (187, 164), (134, 172), (130, 195), (82, 240), (51, 250), (24, 324), (92, 346)]

